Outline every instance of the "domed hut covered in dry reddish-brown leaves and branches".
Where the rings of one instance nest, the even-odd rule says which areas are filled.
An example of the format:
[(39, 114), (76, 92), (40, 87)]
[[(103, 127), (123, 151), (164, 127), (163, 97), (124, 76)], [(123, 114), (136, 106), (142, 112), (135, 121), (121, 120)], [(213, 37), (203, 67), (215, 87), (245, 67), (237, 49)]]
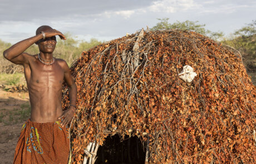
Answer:
[[(179, 76), (186, 65), (197, 74), (191, 82)], [(227, 46), (195, 32), (142, 29), (83, 52), (70, 69), (73, 163), (256, 161), (255, 86)], [(116, 143), (130, 137), (127, 148)], [(97, 153), (107, 143), (117, 148)]]

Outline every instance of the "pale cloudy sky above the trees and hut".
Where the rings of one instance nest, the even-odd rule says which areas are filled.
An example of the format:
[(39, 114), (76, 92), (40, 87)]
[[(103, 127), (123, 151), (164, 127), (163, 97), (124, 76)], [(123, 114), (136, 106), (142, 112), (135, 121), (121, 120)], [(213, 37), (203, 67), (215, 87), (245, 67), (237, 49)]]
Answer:
[(0, 0), (0, 39), (16, 43), (48, 25), (83, 41), (123, 37), (159, 20), (199, 21), (227, 36), (256, 19), (255, 0)]

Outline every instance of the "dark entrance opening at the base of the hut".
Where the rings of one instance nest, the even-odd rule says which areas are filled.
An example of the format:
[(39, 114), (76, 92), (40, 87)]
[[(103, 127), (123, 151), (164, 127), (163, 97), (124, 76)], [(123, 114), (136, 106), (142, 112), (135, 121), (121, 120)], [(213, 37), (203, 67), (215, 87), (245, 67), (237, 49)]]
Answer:
[(144, 164), (146, 147), (138, 137), (125, 136), (121, 141), (119, 135), (106, 138), (104, 146), (97, 151), (96, 164)]

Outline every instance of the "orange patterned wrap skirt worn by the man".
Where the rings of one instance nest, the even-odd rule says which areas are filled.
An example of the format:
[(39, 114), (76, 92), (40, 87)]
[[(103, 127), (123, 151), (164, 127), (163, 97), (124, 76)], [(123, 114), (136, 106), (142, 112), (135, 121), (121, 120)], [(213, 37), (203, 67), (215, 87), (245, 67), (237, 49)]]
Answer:
[(15, 149), (13, 163), (66, 164), (70, 152), (70, 135), (61, 121), (24, 123)]

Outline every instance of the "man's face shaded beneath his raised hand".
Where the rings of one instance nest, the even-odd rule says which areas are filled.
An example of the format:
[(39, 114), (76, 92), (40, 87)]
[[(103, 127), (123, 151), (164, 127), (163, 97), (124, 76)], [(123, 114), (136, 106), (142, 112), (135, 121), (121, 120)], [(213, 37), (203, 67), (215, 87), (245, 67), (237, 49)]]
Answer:
[(55, 50), (56, 46), (56, 37), (50, 37), (45, 39), (40, 39), (38, 41), (38, 48), (43, 53), (52, 53)]

